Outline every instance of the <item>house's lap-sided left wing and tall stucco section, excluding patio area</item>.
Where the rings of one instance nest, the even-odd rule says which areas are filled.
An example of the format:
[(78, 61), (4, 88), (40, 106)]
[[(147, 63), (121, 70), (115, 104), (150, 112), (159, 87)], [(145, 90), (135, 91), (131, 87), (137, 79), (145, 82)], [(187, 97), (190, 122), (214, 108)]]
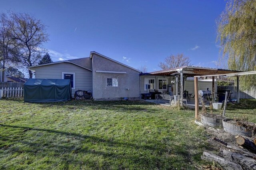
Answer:
[(70, 79), (72, 96), (77, 90), (91, 90), (94, 99), (140, 97), (140, 71), (95, 51), (90, 57), (29, 67), (35, 78)]

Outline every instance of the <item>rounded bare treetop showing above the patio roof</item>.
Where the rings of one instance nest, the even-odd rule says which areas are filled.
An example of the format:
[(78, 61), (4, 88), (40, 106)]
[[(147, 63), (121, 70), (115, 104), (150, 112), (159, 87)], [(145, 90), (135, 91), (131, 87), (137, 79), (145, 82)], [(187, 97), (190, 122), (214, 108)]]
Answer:
[(177, 55), (170, 55), (164, 59), (164, 62), (160, 62), (158, 66), (161, 69), (172, 69), (176, 67), (182, 67), (184, 65), (191, 65), (189, 57), (186, 57), (183, 53)]

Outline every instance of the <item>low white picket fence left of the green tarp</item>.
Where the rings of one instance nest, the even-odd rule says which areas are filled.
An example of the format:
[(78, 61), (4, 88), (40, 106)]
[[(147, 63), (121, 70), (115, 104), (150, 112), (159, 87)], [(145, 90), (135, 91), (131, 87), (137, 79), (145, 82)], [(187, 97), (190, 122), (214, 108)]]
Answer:
[(12, 87), (8, 87), (8, 88), (3, 88), (0, 89), (0, 99), (2, 98), (13, 98), (13, 97), (24, 97), (24, 89), (22, 88), (12, 88)]

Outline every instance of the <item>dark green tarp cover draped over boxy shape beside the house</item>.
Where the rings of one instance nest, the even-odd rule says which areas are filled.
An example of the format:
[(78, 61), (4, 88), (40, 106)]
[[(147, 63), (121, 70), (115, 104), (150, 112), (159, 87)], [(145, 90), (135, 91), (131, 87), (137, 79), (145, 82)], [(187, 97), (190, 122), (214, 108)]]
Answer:
[(56, 102), (70, 99), (70, 79), (28, 79), (24, 84), (24, 102)]

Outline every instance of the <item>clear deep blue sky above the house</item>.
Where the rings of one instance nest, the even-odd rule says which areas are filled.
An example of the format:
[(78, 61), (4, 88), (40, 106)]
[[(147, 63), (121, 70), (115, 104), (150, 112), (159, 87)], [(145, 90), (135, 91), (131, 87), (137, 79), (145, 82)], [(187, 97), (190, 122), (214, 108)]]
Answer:
[(28, 12), (47, 26), (54, 61), (102, 53), (134, 68), (184, 53), (192, 64), (216, 67), (216, 18), (224, 0), (6, 0), (0, 12)]

